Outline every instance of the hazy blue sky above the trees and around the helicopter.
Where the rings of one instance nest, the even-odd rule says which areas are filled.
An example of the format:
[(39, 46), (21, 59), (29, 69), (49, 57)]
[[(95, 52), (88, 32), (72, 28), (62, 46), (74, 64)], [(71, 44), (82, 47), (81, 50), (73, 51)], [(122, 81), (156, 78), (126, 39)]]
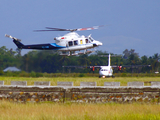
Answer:
[(106, 25), (77, 33), (101, 41), (97, 50), (123, 54), (135, 49), (139, 56), (153, 56), (160, 54), (159, 6), (160, 0), (0, 0), (0, 47), (17, 48), (5, 34), (23, 44), (54, 43), (67, 32), (33, 31)]

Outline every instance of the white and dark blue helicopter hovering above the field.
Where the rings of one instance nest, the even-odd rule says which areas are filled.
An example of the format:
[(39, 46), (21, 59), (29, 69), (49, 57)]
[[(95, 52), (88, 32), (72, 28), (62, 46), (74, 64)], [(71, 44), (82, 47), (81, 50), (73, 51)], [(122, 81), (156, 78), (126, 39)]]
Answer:
[[(94, 30), (98, 29), (102, 26), (94, 26), (87, 28), (78, 28), (78, 29), (61, 29), (61, 28), (51, 28), (46, 27), (46, 30), (35, 30), (35, 32), (43, 32), (43, 31), (69, 31), (69, 33), (55, 37), (55, 43), (46, 43), (46, 44), (32, 44), (32, 45), (24, 45), (21, 43), (20, 39), (12, 37), (11, 35), (5, 34), (6, 37), (13, 39), (13, 42), (19, 49), (38, 49), (38, 50), (57, 50), (60, 52), (60, 55), (64, 56), (73, 56), (73, 55), (81, 55), (81, 54), (90, 54), (94, 51), (90, 51), (88, 49), (95, 48), (103, 45), (102, 42), (94, 40), (91, 35), (85, 37), (84, 35), (80, 36), (75, 31), (83, 31), (83, 30)], [(80, 52), (80, 50), (84, 50)], [(79, 51), (78, 53), (76, 51)]]

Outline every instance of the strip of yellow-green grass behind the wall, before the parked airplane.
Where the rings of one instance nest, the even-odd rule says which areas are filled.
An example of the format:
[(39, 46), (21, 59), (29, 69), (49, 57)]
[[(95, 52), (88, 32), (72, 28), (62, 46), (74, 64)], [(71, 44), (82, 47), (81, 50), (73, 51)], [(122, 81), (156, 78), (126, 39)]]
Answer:
[(27, 81), (27, 85), (34, 85), (35, 81), (50, 81), (51, 86), (56, 86), (57, 82), (73, 82), (74, 86), (79, 86), (80, 82), (97, 82), (97, 86), (103, 86), (104, 82), (120, 82), (121, 86), (127, 86), (128, 82), (141, 81), (149, 85), (149, 81), (160, 81), (160, 77), (115, 77), (115, 78), (98, 78), (98, 77), (0, 77), (5, 85), (10, 85), (11, 81)]

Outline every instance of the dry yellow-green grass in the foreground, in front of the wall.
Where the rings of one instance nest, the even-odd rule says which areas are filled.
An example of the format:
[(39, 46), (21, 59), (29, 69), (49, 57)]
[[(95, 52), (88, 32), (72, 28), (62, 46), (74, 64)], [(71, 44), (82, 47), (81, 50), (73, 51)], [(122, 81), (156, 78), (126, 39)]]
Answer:
[(157, 104), (0, 102), (0, 120), (159, 120)]

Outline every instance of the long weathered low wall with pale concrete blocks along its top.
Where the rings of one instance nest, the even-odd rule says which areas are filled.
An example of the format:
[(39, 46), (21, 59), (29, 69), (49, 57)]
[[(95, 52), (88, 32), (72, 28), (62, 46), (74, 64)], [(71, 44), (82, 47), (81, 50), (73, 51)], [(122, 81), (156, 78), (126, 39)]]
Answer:
[(120, 86), (120, 82), (104, 82), (104, 86), (97, 86), (96, 82), (82, 82), (80, 86), (74, 86), (73, 82), (57, 82), (57, 86), (50, 86), (50, 82), (34, 82), (33, 86), (27, 86), (27, 81), (11, 81), (11, 85), (0, 81), (0, 100), (21, 103), (159, 103), (160, 82), (150, 83), (150, 86), (144, 86), (143, 82), (128, 82), (127, 86)]

